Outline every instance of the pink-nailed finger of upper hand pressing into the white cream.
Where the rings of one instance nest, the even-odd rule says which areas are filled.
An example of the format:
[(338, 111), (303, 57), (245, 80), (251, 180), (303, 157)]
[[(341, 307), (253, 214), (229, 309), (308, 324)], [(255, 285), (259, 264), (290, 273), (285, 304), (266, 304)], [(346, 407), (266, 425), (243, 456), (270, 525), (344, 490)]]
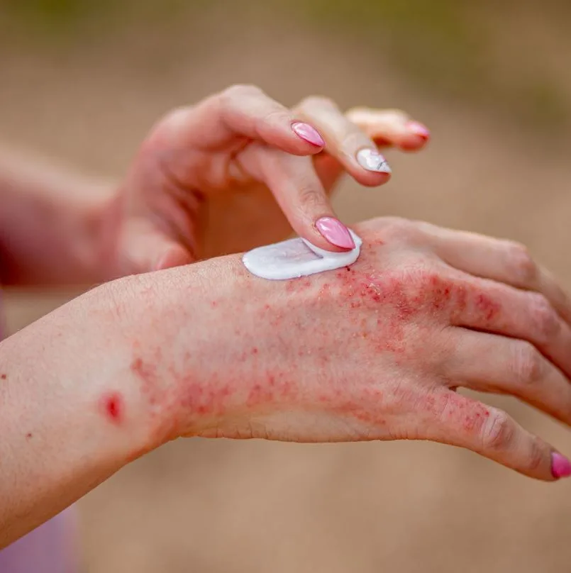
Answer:
[(240, 167), (274, 194), (292, 228), (317, 247), (329, 251), (353, 249), (348, 228), (336, 218), (310, 157), (296, 157), (250, 145), (237, 157)]

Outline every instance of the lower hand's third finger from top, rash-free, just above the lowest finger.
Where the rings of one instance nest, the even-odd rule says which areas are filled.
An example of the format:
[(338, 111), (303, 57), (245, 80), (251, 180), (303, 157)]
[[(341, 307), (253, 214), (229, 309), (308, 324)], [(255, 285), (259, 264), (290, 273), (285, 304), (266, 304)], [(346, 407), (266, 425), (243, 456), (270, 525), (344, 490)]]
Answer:
[(447, 378), (473, 390), (517, 396), (571, 425), (569, 379), (536, 347), (524, 340), (455, 330)]

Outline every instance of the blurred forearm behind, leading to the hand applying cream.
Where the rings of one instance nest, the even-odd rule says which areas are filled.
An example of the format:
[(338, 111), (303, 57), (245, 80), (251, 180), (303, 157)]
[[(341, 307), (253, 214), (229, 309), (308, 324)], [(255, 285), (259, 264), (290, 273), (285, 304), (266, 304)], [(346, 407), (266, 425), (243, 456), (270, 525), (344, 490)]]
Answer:
[(109, 278), (109, 182), (0, 148), (0, 279), (92, 284)]

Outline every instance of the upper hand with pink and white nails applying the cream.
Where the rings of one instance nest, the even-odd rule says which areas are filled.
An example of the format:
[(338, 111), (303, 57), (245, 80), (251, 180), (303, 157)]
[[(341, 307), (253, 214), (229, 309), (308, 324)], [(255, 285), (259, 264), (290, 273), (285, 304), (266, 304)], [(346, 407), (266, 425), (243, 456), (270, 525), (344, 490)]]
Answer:
[(170, 113), (145, 140), (108, 216), (106, 264), (117, 260), (116, 275), (173, 267), (292, 228), (324, 249), (351, 248), (328, 200), (340, 174), (384, 184), (377, 145), (419, 150), (427, 140), (401, 111), (343, 114), (317, 97), (290, 110), (255, 87), (231, 87)]

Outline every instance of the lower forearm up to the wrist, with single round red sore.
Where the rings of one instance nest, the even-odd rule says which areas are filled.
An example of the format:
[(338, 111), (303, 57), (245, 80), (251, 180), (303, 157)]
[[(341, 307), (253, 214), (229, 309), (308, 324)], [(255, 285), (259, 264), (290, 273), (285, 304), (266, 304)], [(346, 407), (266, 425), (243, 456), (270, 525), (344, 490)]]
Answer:
[(160, 445), (116, 297), (85, 297), (0, 343), (0, 548)]

